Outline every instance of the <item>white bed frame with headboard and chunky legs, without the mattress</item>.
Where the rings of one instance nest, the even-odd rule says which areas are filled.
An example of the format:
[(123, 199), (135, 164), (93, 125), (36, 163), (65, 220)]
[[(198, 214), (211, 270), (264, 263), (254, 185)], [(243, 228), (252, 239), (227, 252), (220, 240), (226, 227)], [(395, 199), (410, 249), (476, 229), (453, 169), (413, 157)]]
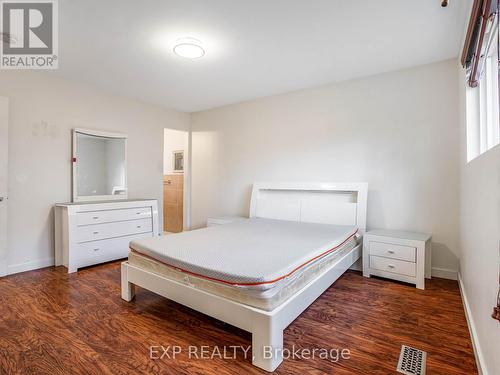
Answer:
[[(338, 225), (366, 230), (366, 183), (256, 183), (250, 217)], [(122, 298), (131, 301), (135, 285), (252, 333), (252, 363), (274, 371), (283, 361), (283, 330), (361, 256), (361, 244), (342, 256), (280, 306), (265, 311), (183, 285), (123, 262)], [(269, 348), (273, 355), (269, 356)]]

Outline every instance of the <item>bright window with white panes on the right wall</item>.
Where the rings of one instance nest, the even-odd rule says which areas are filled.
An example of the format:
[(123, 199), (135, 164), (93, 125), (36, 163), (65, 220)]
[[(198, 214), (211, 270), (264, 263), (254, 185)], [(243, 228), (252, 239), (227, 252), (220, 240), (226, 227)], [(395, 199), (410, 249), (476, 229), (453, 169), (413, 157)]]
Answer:
[(477, 87), (467, 88), (467, 161), (500, 143), (498, 23), (481, 60)]

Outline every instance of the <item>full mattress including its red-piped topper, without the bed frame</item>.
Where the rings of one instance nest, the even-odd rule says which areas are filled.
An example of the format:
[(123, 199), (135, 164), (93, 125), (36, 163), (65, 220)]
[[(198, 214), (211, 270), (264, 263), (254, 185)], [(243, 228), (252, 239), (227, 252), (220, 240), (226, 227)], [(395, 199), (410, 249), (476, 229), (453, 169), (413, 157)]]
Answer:
[(358, 243), (353, 226), (248, 219), (130, 243), (129, 263), (271, 310)]

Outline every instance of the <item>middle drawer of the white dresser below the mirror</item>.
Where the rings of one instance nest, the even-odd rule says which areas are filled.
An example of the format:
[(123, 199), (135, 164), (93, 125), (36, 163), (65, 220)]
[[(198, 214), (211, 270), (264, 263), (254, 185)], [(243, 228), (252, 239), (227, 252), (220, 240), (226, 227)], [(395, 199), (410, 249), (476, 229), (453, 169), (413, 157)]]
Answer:
[(84, 225), (77, 228), (77, 242), (122, 237), (153, 230), (151, 219), (119, 221), (115, 223)]

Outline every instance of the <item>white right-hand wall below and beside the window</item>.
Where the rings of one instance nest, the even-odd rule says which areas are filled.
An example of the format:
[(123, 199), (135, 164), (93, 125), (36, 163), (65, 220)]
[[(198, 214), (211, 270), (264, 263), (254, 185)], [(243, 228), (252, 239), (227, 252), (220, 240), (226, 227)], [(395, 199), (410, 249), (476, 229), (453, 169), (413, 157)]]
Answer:
[(500, 145), (467, 163), (464, 72), (460, 87), (460, 276), (484, 374), (500, 374), (496, 304), (500, 251)]

